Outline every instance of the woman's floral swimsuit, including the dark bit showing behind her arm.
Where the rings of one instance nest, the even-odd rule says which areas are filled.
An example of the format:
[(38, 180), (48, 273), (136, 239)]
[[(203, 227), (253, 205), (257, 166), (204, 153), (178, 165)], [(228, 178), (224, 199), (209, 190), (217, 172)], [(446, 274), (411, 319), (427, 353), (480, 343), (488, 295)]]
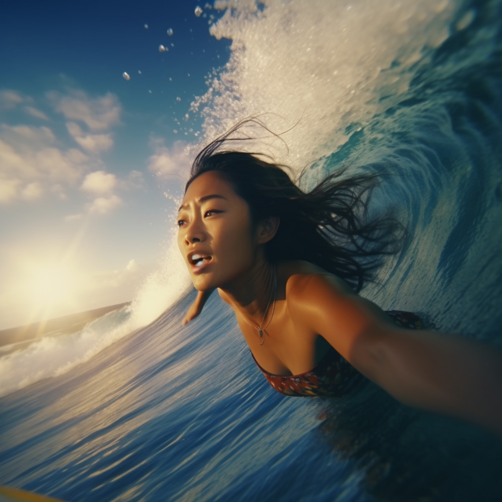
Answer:
[[(389, 310), (387, 314), (401, 327), (422, 328), (420, 318), (412, 312)], [(258, 364), (253, 353), (251, 355), (269, 384), (287, 396), (342, 396), (355, 387), (362, 376), (333, 347), (311, 370), (288, 376), (269, 373)]]

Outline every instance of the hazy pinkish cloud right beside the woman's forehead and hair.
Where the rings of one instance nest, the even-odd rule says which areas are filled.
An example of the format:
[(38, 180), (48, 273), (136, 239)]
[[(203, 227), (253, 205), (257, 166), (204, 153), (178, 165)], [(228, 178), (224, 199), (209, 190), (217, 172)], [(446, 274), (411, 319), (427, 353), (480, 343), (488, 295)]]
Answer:
[(168, 149), (162, 139), (152, 138), (150, 146), (155, 152), (148, 160), (148, 169), (152, 173), (161, 178), (188, 178), (190, 159), (184, 142), (176, 141), (173, 147)]

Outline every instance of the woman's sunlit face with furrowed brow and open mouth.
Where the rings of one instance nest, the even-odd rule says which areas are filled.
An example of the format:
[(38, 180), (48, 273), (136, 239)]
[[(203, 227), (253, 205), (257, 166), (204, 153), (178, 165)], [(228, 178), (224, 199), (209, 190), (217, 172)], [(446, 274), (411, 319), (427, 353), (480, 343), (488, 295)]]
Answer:
[(178, 246), (199, 291), (222, 287), (253, 266), (249, 206), (218, 173), (190, 184), (178, 213)]

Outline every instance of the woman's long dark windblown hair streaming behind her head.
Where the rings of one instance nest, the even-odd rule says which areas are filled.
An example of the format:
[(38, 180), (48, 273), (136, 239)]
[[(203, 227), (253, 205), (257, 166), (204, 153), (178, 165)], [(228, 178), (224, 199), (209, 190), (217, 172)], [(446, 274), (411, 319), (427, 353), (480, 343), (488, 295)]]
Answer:
[[(245, 119), (207, 145), (195, 158), (192, 181), (215, 171), (247, 202), (253, 221), (279, 216), (279, 229), (265, 244), (267, 259), (305, 260), (344, 279), (356, 292), (373, 281), (385, 255), (397, 252), (403, 227), (392, 217), (368, 218), (367, 204), (378, 175), (344, 178), (344, 170), (322, 180), (312, 191), (302, 191), (289, 177), (286, 166), (265, 162), (264, 154), (222, 147)], [(274, 133), (272, 133), (274, 134)]]

